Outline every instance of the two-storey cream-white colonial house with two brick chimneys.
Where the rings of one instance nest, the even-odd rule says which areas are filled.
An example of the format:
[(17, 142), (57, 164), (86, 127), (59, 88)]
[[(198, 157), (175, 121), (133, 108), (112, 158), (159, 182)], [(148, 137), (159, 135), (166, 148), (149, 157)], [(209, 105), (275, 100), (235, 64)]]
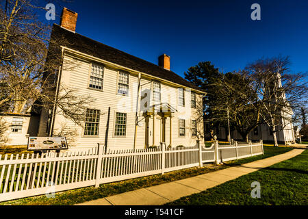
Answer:
[[(108, 47), (75, 33), (77, 14), (64, 8), (61, 25), (53, 25), (52, 38), (66, 39), (60, 51), (63, 63), (58, 87), (93, 101), (79, 126), (58, 114), (42, 110), (38, 136), (56, 136), (63, 129), (74, 133), (70, 146), (144, 149), (159, 146), (194, 146), (201, 140), (203, 120), (197, 112), (203, 90), (170, 70), (170, 57), (159, 65)], [(64, 64), (65, 65), (65, 64)]]

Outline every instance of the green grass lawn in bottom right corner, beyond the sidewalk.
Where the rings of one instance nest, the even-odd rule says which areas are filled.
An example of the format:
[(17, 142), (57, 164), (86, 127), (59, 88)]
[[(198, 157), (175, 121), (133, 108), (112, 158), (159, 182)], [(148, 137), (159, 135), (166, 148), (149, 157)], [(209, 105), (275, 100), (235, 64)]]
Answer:
[[(251, 197), (251, 183), (261, 198)], [(268, 168), (166, 205), (308, 205), (308, 151)]]

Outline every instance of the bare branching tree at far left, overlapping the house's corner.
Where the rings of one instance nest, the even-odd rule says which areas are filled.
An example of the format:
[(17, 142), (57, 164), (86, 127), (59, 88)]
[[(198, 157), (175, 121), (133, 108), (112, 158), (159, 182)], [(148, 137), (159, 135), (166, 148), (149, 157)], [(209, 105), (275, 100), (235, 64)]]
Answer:
[(31, 0), (0, 5), (0, 110), (57, 109), (80, 125), (93, 99), (57, 84), (60, 70), (75, 68), (76, 62), (64, 63), (60, 45), (68, 42), (50, 37), (51, 26), (39, 20), (38, 10), (44, 8)]

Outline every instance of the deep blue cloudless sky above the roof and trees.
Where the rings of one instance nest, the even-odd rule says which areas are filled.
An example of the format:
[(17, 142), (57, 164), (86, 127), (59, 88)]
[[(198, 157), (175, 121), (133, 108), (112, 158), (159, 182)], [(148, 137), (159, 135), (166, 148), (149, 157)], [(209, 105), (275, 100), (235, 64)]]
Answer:
[[(261, 21), (251, 20), (253, 3)], [(182, 77), (201, 61), (227, 73), (277, 55), (290, 55), (294, 72), (308, 70), (308, 1), (75, 0), (57, 14), (62, 6), (78, 13), (77, 33), (155, 64), (166, 53)]]

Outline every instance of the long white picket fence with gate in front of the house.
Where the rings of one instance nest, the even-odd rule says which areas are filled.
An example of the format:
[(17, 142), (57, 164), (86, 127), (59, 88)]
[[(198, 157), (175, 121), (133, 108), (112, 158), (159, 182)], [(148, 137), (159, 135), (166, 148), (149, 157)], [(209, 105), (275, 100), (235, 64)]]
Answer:
[(263, 153), (262, 142), (247, 145), (209, 148), (168, 148), (105, 151), (103, 146), (92, 150), (48, 155), (0, 155), (0, 202), (27, 196), (49, 194), (86, 186), (99, 186), (148, 175), (164, 174), (205, 162), (220, 162)]

